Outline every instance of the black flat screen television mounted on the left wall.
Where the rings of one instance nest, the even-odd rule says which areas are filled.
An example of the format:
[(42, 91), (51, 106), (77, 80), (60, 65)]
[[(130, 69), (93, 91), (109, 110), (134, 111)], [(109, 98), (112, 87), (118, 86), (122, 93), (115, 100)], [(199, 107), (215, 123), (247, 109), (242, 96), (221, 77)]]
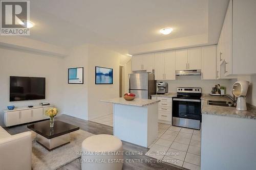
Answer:
[(10, 76), (10, 102), (46, 99), (46, 78)]

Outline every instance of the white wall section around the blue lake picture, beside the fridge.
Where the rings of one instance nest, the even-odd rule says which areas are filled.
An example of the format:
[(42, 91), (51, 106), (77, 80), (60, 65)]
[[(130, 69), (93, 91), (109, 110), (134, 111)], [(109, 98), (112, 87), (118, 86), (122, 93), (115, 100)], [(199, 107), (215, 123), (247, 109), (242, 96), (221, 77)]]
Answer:
[[(89, 44), (88, 54), (88, 119), (92, 119), (113, 112), (112, 104), (103, 103), (100, 100), (119, 98), (120, 54), (93, 44)], [(96, 85), (95, 66), (113, 68), (113, 84)]]

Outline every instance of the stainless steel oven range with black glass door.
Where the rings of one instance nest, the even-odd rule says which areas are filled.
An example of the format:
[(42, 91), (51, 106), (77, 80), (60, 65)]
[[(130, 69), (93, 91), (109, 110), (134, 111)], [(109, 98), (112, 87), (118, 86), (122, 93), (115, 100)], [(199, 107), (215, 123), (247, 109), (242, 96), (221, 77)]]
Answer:
[(177, 88), (173, 98), (173, 126), (200, 130), (201, 88)]

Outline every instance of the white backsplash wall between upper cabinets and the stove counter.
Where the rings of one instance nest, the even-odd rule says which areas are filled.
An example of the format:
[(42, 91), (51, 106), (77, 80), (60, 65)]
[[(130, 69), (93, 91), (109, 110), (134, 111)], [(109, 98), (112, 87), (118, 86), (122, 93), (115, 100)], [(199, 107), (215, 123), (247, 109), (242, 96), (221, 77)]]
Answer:
[(164, 82), (168, 83), (168, 92), (177, 92), (177, 87), (201, 87), (202, 93), (210, 93), (216, 84), (225, 86), (227, 94), (232, 90), (231, 80), (201, 80), (201, 76), (176, 76), (176, 80)]

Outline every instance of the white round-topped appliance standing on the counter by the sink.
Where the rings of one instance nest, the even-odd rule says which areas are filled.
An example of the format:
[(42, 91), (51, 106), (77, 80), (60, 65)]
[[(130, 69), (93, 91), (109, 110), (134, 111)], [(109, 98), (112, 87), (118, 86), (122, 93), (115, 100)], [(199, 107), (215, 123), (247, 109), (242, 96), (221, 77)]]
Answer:
[(244, 80), (237, 81), (233, 85), (232, 93), (234, 96), (238, 98), (237, 110), (242, 110), (242, 111), (247, 110), (245, 96), (246, 96), (248, 87), (249, 87), (249, 82)]

